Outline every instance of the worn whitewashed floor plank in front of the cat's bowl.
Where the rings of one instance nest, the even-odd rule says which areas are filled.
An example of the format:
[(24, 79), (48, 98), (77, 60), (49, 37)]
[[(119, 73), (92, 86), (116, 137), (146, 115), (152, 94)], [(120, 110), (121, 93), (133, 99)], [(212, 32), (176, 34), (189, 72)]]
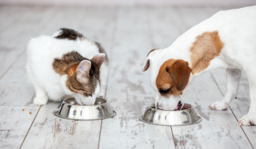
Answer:
[(101, 120), (77, 121), (54, 115), (60, 103), (41, 106), (21, 148), (97, 148)]

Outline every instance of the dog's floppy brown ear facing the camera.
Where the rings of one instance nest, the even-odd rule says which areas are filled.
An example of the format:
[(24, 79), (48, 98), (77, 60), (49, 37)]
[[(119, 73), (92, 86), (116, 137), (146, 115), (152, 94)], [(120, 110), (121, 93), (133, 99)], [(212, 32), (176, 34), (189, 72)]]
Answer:
[(167, 67), (166, 71), (171, 74), (175, 87), (182, 91), (188, 85), (191, 69), (188, 62), (183, 60), (175, 61), (171, 67)]

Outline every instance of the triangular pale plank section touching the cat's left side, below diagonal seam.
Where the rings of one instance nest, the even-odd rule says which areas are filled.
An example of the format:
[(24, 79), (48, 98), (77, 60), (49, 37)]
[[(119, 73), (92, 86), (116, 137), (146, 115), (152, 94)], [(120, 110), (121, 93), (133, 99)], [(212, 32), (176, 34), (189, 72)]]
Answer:
[(0, 80), (0, 105), (33, 105), (34, 87), (26, 73), (27, 54), (24, 53)]

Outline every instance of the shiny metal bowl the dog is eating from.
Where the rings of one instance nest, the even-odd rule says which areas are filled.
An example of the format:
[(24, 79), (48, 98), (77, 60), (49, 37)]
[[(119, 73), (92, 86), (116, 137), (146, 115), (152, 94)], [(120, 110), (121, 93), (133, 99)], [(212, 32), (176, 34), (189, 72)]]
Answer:
[(167, 111), (147, 107), (144, 114), (141, 115), (142, 122), (163, 125), (163, 126), (183, 126), (192, 125), (201, 122), (202, 119), (197, 116), (194, 107), (190, 104), (184, 104), (182, 110)]

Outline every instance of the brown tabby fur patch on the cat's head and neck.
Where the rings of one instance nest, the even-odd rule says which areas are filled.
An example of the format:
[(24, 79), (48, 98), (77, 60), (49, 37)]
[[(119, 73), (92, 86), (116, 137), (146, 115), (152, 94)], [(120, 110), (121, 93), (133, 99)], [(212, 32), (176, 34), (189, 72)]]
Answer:
[[(86, 82), (79, 82), (77, 80), (77, 67), (79, 63), (83, 60), (87, 60), (91, 62), (91, 68), (89, 73), (84, 74), (83, 77), (85, 78)], [(93, 61), (86, 59), (79, 53), (72, 51), (67, 54), (64, 54), (60, 59), (54, 59), (53, 63), (53, 70), (60, 74), (67, 74), (67, 81), (66, 86), (68, 89), (71, 90), (73, 93), (82, 94), (84, 96), (89, 96), (94, 94), (95, 87), (97, 86), (97, 82), (100, 83), (99, 79), (99, 67)]]

